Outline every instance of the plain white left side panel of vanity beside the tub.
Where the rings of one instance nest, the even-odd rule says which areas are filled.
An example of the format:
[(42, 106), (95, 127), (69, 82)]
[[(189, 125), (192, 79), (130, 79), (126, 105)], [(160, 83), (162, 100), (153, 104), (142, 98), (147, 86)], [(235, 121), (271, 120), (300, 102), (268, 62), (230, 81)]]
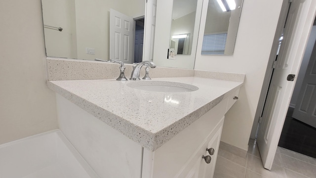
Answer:
[(100, 178), (141, 178), (143, 148), (56, 94), (60, 130)]

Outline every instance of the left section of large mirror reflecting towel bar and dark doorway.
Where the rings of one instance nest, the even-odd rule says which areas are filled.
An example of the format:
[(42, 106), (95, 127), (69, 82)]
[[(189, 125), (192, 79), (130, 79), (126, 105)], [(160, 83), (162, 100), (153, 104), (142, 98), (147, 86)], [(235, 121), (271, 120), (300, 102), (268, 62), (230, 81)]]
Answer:
[[(122, 36), (120, 39), (115, 37), (115, 40), (128, 41), (132, 48), (134, 38), (141, 42), (136, 44), (136, 52), (129, 49), (135, 53), (136, 60), (141, 60), (145, 0), (42, 0), (42, 10), (47, 56), (86, 60), (108, 60), (117, 55), (124, 59), (134, 58), (123, 49), (118, 52), (110, 49), (111, 38), (115, 37), (109, 35), (113, 23), (113, 28), (121, 26), (134, 31), (129, 39)], [(112, 12), (121, 19), (111, 21)], [(127, 63), (132, 62), (129, 60)]]

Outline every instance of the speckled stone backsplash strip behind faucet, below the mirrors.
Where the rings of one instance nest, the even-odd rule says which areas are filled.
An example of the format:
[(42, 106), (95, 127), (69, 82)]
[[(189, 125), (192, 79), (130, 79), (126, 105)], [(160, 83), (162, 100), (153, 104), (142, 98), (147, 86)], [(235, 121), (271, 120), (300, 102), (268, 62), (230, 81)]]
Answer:
[[(125, 64), (125, 77), (129, 79), (133, 70), (132, 64)], [(88, 60), (72, 60), (62, 58), (46, 59), (47, 80), (102, 80), (116, 79), (119, 76), (119, 64), (88, 61)], [(141, 78), (145, 75), (145, 70), (141, 70)], [(226, 80), (234, 82), (243, 82), (244, 74), (226, 73), (226, 72), (209, 72), (197, 71), (191, 69), (156, 67), (150, 69), (151, 78), (165, 77), (202, 77), (217, 80)]]

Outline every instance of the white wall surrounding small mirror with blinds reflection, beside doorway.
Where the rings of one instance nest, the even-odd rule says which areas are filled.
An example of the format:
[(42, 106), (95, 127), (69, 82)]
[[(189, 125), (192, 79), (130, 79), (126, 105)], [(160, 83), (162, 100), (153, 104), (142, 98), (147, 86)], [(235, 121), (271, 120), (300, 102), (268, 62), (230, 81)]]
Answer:
[[(238, 101), (226, 114), (221, 138), (244, 150), (247, 150), (281, 5), (282, 0), (244, 0), (233, 55), (200, 55), (202, 37), (198, 39), (196, 70), (246, 75)], [(204, 29), (202, 25), (200, 28)]]

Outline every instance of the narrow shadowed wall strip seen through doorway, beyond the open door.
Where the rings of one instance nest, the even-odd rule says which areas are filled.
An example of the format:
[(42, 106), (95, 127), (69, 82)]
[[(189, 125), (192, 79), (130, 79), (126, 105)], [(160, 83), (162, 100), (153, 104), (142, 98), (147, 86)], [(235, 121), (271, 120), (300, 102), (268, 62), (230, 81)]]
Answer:
[(303, 84), (306, 69), (307, 69), (308, 63), (309, 63), (310, 58), (311, 58), (311, 54), (312, 54), (312, 51), (314, 48), (315, 41), (316, 41), (316, 26), (313, 26), (308, 43), (307, 43), (307, 46), (306, 46), (306, 49), (305, 49), (304, 57), (303, 57), (302, 64), (300, 67), (300, 72), (298, 73), (295, 87), (293, 90), (292, 98), (290, 101), (290, 107), (295, 108), (298, 94), (299, 94), (301, 87), (302, 87), (302, 84)]

